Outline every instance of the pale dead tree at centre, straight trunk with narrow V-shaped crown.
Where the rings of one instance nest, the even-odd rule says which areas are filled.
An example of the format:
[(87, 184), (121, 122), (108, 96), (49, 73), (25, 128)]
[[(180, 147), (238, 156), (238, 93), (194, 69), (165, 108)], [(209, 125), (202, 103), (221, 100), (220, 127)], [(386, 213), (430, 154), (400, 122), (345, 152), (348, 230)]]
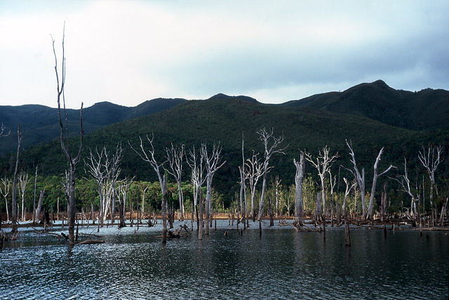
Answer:
[(206, 143), (201, 145), (201, 156), (204, 159), (204, 166), (206, 167), (206, 228), (204, 234), (209, 234), (209, 222), (212, 220), (212, 178), (215, 172), (223, 167), (226, 163), (222, 162), (222, 146), (220, 144), (213, 144), (212, 151), (208, 153)]

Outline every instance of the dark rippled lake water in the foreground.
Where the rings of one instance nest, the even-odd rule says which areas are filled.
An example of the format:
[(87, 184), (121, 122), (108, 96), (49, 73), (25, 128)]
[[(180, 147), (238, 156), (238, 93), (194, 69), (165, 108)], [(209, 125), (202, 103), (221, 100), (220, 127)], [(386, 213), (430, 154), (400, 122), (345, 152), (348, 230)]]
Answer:
[[(449, 235), (351, 230), (296, 233), (257, 226), (241, 237), (219, 223), (161, 244), (161, 228), (103, 228), (105, 244), (69, 248), (23, 230), (0, 251), (0, 298), (448, 299)], [(221, 229), (220, 229), (221, 228)], [(229, 230), (226, 237), (223, 233)], [(58, 232), (58, 230), (55, 230)], [(91, 233), (93, 228), (82, 230)], [(96, 233), (96, 230), (95, 232)], [(195, 231), (196, 233), (196, 231)]]

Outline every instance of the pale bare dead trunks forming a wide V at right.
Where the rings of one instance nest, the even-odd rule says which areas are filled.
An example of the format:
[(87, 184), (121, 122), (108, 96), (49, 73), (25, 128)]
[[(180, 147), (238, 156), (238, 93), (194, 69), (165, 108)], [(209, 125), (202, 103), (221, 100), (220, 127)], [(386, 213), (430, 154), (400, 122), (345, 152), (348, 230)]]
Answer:
[(356, 158), (354, 155), (354, 150), (352, 149), (352, 145), (349, 145), (348, 141), (346, 141), (346, 144), (350, 151), (349, 154), (351, 155), (351, 162), (354, 165), (354, 171), (352, 171), (351, 169), (348, 169), (348, 170), (351, 171), (351, 173), (354, 175), (354, 177), (356, 177), (357, 183), (358, 183), (358, 188), (360, 189), (360, 192), (361, 192), (363, 219), (371, 219), (371, 217), (373, 216), (373, 204), (374, 204), (374, 198), (375, 198), (377, 178), (379, 178), (380, 176), (382, 176), (384, 174), (387, 174), (388, 171), (390, 171), (391, 169), (394, 169), (396, 167), (394, 167), (392, 164), (390, 164), (390, 166), (387, 169), (385, 169), (385, 171), (383, 171), (381, 174), (378, 174), (377, 167), (379, 166), (379, 162), (382, 157), (382, 153), (384, 152), (384, 147), (382, 147), (382, 149), (380, 149), (379, 154), (377, 155), (376, 161), (374, 163), (373, 185), (371, 185), (370, 202), (368, 204), (368, 211), (367, 211), (366, 200), (365, 200), (365, 169), (362, 168), (362, 174), (359, 173), (357, 164), (356, 164)]

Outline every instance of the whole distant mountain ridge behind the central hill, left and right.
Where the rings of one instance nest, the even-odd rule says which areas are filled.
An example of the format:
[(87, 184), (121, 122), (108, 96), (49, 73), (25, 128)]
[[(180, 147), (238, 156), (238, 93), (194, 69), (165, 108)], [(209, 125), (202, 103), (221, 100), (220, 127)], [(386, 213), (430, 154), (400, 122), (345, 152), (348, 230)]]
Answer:
[[(251, 105), (268, 107), (309, 107), (314, 110), (326, 110), (330, 113), (366, 117), (383, 124), (415, 131), (449, 128), (449, 91), (443, 89), (424, 89), (418, 92), (396, 90), (384, 81), (362, 83), (345, 91), (319, 93), (300, 100), (290, 100), (281, 104), (264, 104), (249, 96), (227, 96), (217, 93), (206, 100), (237, 100)], [(83, 127), (89, 134), (105, 126), (128, 119), (170, 110), (185, 103), (184, 98), (155, 98), (135, 107), (126, 107), (109, 102), (95, 103), (83, 109)], [(76, 135), (79, 130), (79, 110), (67, 109), (69, 132)], [(260, 111), (255, 110), (254, 114)], [(266, 113), (266, 112), (265, 112)], [(286, 113), (288, 115), (288, 113)], [(60, 134), (56, 108), (44, 105), (0, 106), (0, 122), (8, 131), (14, 132), (20, 123), (24, 138), (24, 148), (58, 138)], [(15, 134), (3, 137), (0, 154), (14, 151)]]

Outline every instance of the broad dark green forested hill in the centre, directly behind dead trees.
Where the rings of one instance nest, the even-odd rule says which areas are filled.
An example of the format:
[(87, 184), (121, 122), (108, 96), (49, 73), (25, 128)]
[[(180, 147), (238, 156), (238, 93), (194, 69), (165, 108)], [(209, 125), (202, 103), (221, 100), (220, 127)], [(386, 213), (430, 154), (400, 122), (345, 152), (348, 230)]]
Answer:
[[(390, 163), (401, 167), (403, 157), (407, 157), (410, 166), (417, 166), (417, 152), (429, 142), (443, 145), (443, 156), (448, 157), (449, 131), (412, 131), (357, 115), (328, 112), (314, 107), (267, 105), (251, 99), (248, 101), (244, 97), (223, 95), (208, 100), (184, 101), (154, 115), (129, 119), (99, 129), (86, 135), (83, 157), (87, 157), (89, 150), (95, 147), (107, 146), (109, 150), (113, 150), (121, 143), (121, 177), (136, 176), (136, 180), (157, 181), (152, 168), (131, 150), (128, 142), (139, 149), (141, 137), (147, 147), (146, 136), (151, 137), (154, 133), (154, 146), (159, 162), (163, 162), (164, 148), (170, 147), (170, 143), (184, 143), (187, 149), (193, 145), (198, 149), (204, 142), (210, 147), (213, 143), (220, 143), (223, 147), (223, 160), (227, 163), (214, 177), (214, 186), (220, 193), (232, 198), (239, 181), (242, 133), (245, 136), (245, 155), (249, 157), (252, 150), (263, 153), (262, 142), (256, 134), (257, 129), (263, 127), (274, 129), (276, 136), (285, 136), (283, 145), (288, 145), (286, 155), (272, 157), (270, 165), (274, 169), (269, 176), (279, 175), (286, 185), (294, 182), (293, 158), (298, 158), (298, 148), (316, 155), (319, 148), (328, 145), (331, 152), (340, 154), (335, 168), (338, 169), (340, 164), (350, 167), (346, 139), (353, 144), (358, 164), (366, 169), (367, 181), (372, 175), (375, 157), (382, 147), (385, 150), (380, 169), (385, 169)], [(76, 138), (71, 145), (77, 145)], [(21, 157), (20, 168), (32, 170), (38, 164), (41, 175), (59, 176), (67, 166), (58, 140), (24, 150)], [(448, 161), (449, 159), (445, 159), (441, 167), (438, 167), (438, 172), (441, 171), (438, 174), (446, 174), (445, 178), (449, 170)], [(13, 152), (0, 158), (2, 175), (11, 174), (14, 162)], [(83, 169), (83, 162), (80, 162), (78, 176), (86, 176)], [(307, 165), (306, 173), (316, 172)], [(187, 166), (183, 178), (189, 180)], [(444, 177), (438, 177), (438, 180), (444, 180)]]

